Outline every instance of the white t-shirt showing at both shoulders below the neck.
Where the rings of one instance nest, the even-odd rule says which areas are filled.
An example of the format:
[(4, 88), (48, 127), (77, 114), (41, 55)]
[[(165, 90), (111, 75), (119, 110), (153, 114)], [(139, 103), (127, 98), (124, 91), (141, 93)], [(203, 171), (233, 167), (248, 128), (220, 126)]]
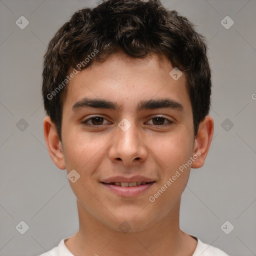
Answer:
[[(50, 256), (74, 256), (67, 249), (64, 243), (64, 241), (66, 241), (69, 237), (63, 238), (57, 247), (54, 247), (51, 250), (40, 254), (39, 256), (49, 256), (49, 255)], [(197, 245), (194, 253), (191, 256), (228, 256), (224, 251), (216, 247), (213, 247), (209, 244), (203, 243), (197, 237), (194, 237), (194, 238), (196, 238), (197, 240)]]

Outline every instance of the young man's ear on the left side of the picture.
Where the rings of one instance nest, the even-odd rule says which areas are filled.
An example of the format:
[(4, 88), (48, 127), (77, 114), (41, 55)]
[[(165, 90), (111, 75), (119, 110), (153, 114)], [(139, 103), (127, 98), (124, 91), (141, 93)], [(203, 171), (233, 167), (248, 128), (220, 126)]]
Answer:
[(65, 169), (61, 141), (59, 140), (55, 124), (49, 116), (43, 119), (43, 133), (51, 160), (59, 169)]

